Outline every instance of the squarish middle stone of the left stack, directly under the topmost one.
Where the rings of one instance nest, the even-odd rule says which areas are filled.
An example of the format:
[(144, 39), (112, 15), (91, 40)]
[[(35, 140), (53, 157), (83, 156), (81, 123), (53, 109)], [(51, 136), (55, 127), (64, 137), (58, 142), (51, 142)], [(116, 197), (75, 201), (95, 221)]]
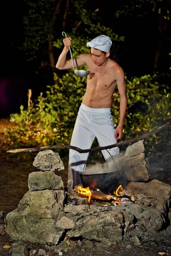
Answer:
[(64, 183), (54, 172), (32, 172), (29, 174), (28, 186), (30, 190), (61, 189)]

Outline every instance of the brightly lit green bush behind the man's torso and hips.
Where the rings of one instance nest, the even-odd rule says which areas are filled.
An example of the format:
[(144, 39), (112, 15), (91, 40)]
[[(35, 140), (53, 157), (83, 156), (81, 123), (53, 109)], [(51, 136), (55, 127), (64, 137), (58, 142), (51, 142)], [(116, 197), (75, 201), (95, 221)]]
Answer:
[[(122, 140), (129, 140), (158, 128), (171, 119), (171, 93), (168, 85), (159, 84), (158, 77), (134, 77), (127, 82), (128, 109)], [(10, 116), (14, 126), (7, 131), (14, 148), (44, 145), (69, 145), (75, 119), (86, 90), (86, 78), (77, 77), (72, 70), (62, 78), (55, 75), (56, 84), (47, 86), (46, 97), (37, 104)], [(119, 93), (113, 94), (111, 108), (115, 125), (119, 122)], [(136, 107), (138, 106), (138, 107)], [(140, 106), (140, 107), (139, 107)], [(157, 135), (149, 137), (155, 143)]]

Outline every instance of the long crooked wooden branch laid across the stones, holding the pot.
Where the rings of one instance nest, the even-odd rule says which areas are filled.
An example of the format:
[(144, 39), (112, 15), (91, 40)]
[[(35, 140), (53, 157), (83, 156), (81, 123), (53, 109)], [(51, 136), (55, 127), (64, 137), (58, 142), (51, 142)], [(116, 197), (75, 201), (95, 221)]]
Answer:
[(104, 146), (104, 147), (81, 149), (81, 148), (77, 148), (77, 147), (72, 146), (72, 145), (53, 145), (53, 146), (44, 146), (44, 147), (41, 147), (41, 148), (18, 148), (18, 149), (8, 150), (7, 152), (9, 152), (9, 153), (35, 152), (35, 151), (43, 151), (43, 150), (47, 150), (47, 149), (70, 148), (70, 149), (73, 149), (75, 151), (78, 151), (79, 153), (88, 153), (88, 152), (100, 151), (100, 150), (104, 150), (104, 149), (116, 148), (116, 147), (120, 147), (120, 146), (127, 145), (127, 144), (130, 144), (130, 143), (135, 143), (139, 140), (145, 140), (148, 136), (151, 136), (152, 134), (157, 134), (159, 131), (162, 131), (163, 129), (166, 129), (166, 128), (168, 128), (167, 124), (162, 125), (159, 128), (157, 128), (153, 131), (150, 131), (146, 134), (143, 134), (142, 136), (136, 137), (134, 139), (125, 140), (123, 142), (108, 145), (108, 146)]

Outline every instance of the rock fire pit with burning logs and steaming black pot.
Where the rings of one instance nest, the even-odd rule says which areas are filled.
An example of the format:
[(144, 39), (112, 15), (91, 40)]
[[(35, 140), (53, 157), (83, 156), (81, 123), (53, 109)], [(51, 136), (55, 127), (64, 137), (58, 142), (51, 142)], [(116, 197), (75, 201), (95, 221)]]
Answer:
[[(170, 228), (171, 186), (149, 180), (143, 148), (128, 148), (126, 155), (119, 158), (120, 164), (116, 163), (116, 171), (110, 165), (105, 170), (104, 166), (100, 169), (96, 165), (94, 173), (88, 169), (80, 174), (82, 185), (87, 188), (78, 185), (74, 189), (64, 188), (61, 177), (51, 169), (43, 170), (47, 166), (43, 154), (39, 165), (41, 172), (29, 174), (29, 191), (20, 200), (18, 208), (6, 215), (6, 233), (17, 241), (56, 245), (62, 238), (66, 241), (69, 237), (112, 247), (123, 239), (128, 241), (136, 236), (140, 236), (140, 240), (142, 237), (143, 242), (149, 234), (154, 236), (155, 231)], [(45, 153), (46, 159), (57, 157), (61, 169), (59, 156), (49, 150)], [(125, 180), (129, 181), (126, 187)], [(23, 233), (23, 230), (26, 231)]]

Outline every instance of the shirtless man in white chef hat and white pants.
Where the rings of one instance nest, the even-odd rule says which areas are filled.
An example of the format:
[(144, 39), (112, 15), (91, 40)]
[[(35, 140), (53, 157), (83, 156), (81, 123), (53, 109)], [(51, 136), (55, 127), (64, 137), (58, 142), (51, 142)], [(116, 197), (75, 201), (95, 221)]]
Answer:
[[(56, 68), (59, 70), (72, 68), (72, 61), (66, 61), (71, 37), (64, 38), (64, 49), (58, 58)], [(87, 89), (78, 111), (75, 127), (72, 133), (70, 145), (81, 149), (91, 148), (95, 137), (100, 146), (117, 143), (122, 138), (123, 124), (127, 108), (125, 75), (122, 68), (110, 56), (112, 41), (106, 35), (100, 35), (87, 43), (91, 47), (91, 53), (80, 55), (74, 59), (74, 66), (87, 66), (90, 74), (87, 77)], [(114, 128), (110, 108), (112, 106), (113, 93), (116, 88), (120, 95), (120, 120)], [(101, 151), (104, 159), (111, 155), (119, 154), (119, 148), (111, 148), (110, 154), (106, 150)], [(79, 172), (84, 171), (88, 153), (80, 154), (70, 149), (68, 188), (81, 184)]]

